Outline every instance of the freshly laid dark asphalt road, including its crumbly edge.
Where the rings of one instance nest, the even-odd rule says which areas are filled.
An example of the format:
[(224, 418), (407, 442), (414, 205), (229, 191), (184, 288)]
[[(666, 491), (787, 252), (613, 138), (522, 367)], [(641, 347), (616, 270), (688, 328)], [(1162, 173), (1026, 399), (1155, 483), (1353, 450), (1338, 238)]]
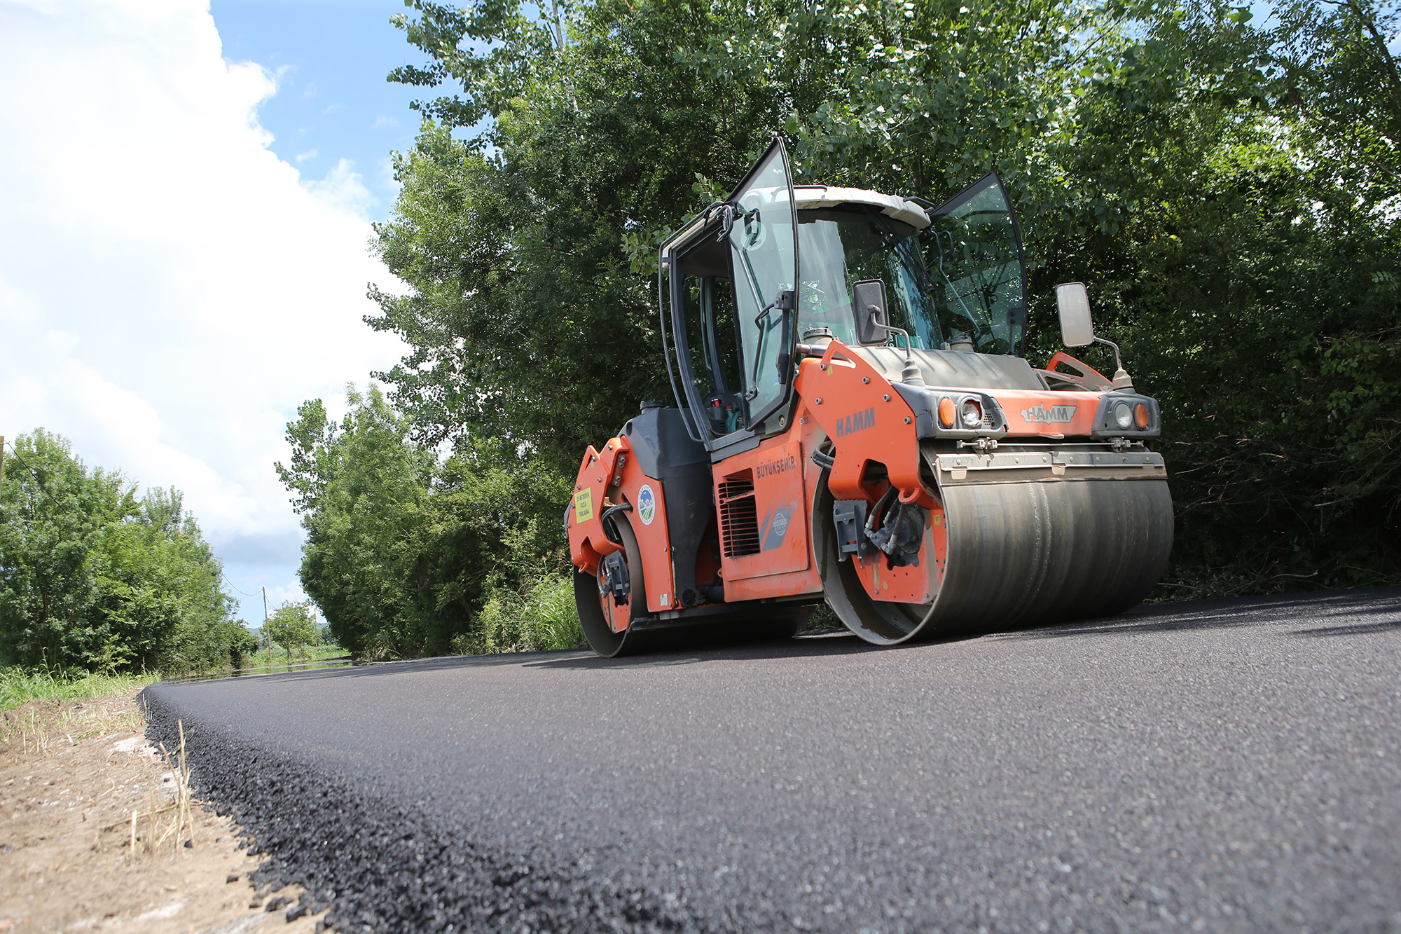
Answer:
[(1401, 588), (147, 700), (338, 930), (1401, 931)]

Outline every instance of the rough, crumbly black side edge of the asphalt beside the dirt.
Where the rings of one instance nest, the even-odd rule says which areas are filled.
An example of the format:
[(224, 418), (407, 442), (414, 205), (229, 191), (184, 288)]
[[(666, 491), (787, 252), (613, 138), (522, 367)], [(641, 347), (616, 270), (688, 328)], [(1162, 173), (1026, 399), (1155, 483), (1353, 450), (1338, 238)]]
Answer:
[(153, 684), (139, 703), (151, 743), (185, 749), (196, 794), (240, 825), (263, 857), (262, 886), (300, 885), (335, 931), (716, 930), (628, 881), (542, 865), (429, 826), (425, 816), (318, 771), (284, 749), (191, 719)]

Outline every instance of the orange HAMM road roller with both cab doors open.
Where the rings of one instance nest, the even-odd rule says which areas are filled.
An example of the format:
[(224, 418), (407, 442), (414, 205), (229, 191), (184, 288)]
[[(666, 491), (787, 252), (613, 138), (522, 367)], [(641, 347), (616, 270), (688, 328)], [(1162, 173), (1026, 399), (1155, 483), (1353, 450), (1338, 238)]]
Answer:
[[(660, 272), (675, 407), (643, 402), (590, 447), (565, 512), (600, 655), (792, 635), (822, 602), (894, 645), (1114, 614), (1157, 583), (1159, 405), (1122, 363), (1021, 356), (996, 174), (943, 205), (794, 187), (775, 140)], [(1068, 346), (1110, 344), (1083, 285), (1056, 297)]]

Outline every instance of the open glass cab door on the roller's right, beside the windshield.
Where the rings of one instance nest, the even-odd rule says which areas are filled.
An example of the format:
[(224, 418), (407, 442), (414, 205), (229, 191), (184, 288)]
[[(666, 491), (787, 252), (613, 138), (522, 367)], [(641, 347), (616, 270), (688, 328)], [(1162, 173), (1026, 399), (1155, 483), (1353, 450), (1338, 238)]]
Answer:
[(929, 210), (925, 259), (948, 342), (979, 353), (1021, 353), (1027, 328), (1021, 230), (996, 172)]

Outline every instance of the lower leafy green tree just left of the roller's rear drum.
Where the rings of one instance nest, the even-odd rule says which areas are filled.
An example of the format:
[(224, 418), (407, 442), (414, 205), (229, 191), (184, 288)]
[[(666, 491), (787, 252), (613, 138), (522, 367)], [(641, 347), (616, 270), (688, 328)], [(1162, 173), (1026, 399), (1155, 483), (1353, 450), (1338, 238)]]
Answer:
[(303, 586), (339, 645), (448, 652), (499, 590), (560, 571), (566, 481), (503, 443), (439, 459), (378, 387), (347, 395), (339, 422), (321, 400), (304, 404), (287, 426), (293, 456), (277, 464), (307, 529)]

